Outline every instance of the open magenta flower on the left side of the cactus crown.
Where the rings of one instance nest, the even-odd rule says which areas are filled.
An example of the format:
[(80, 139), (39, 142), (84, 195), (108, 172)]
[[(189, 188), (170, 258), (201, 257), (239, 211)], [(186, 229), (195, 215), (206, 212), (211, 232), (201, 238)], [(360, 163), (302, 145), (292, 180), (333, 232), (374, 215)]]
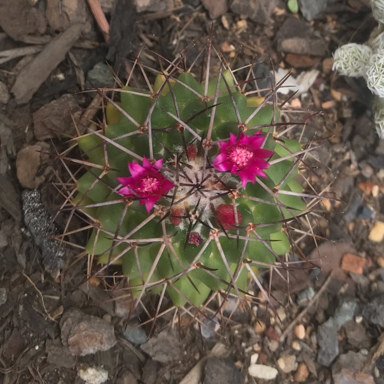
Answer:
[(145, 156), (143, 165), (136, 161), (128, 163), (132, 177), (118, 177), (117, 180), (123, 186), (117, 192), (123, 196), (140, 198), (140, 204), (145, 203), (149, 214), (155, 203), (175, 186), (172, 181), (158, 172), (162, 165), (163, 159), (151, 164)]

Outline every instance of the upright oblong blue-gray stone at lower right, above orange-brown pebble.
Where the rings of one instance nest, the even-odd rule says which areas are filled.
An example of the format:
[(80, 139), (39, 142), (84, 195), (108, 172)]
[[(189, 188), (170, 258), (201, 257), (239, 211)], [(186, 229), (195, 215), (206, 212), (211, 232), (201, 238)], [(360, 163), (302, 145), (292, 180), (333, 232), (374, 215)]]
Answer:
[(317, 329), (317, 362), (329, 367), (338, 355), (337, 325), (333, 317)]

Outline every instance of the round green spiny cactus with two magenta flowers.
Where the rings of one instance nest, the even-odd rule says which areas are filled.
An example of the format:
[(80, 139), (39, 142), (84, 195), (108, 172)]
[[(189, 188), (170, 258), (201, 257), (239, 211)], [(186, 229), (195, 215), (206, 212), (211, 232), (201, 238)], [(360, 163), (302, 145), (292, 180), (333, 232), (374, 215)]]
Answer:
[(77, 138), (85, 172), (68, 202), (92, 227), (85, 252), (121, 265), (136, 305), (147, 291), (195, 308), (212, 291), (244, 296), (258, 269), (285, 265), (287, 223), (306, 210), (309, 148), (275, 134), (276, 89), (252, 96), (220, 54), (210, 77), (213, 49), (202, 83), (182, 56), (152, 86), (137, 59), (148, 90), (105, 96), (107, 124)]

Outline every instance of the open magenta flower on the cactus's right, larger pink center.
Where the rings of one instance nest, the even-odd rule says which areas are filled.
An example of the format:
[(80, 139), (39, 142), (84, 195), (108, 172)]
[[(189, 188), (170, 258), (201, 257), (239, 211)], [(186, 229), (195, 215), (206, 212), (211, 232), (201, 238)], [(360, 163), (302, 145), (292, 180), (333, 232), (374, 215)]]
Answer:
[(214, 160), (214, 167), (222, 172), (237, 174), (245, 188), (248, 181), (255, 183), (255, 176), (266, 177), (263, 169), (269, 167), (264, 159), (273, 155), (272, 151), (260, 148), (265, 137), (262, 131), (253, 136), (240, 133), (237, 137), (230, 134), (228, 141), (219, 141), (220, 154)]

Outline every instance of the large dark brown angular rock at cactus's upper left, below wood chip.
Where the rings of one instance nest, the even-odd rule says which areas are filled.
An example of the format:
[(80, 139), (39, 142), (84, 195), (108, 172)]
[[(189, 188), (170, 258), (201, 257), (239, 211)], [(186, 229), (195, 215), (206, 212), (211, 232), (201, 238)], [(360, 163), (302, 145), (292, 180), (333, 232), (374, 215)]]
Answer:
[(73, 137), (76, 129), (72, 120), (78, 120), (79, 105), (72, 95), (62, 95), (43, 105), (33, 114), (33, 130), (37, 140), (47, 140), (56, 137)]

